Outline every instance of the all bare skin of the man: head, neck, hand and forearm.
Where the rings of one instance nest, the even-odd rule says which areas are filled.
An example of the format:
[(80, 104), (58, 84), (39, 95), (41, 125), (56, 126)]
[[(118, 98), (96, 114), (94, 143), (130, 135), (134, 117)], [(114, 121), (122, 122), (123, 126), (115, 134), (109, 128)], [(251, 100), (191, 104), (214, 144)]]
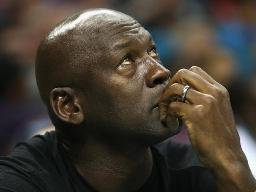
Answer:
[[(179, 132), (177, 117), (220, 191), (256, 189), (226, 89), (198, 67), (170, 79), (132, 17), (93, 9), (61, 22), (39, 46), (36, 76), (58, 137), (96, 190), (138, 190), (152, 170), (149, 146)], [(187, 84), (187, 103), (177, 102)]]

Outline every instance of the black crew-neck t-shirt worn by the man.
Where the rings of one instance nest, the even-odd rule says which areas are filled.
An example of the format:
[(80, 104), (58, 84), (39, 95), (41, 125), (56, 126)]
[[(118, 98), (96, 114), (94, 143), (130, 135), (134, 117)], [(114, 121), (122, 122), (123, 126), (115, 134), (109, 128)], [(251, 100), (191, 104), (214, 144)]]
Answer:
[[(138, 192), (217, 191), (190, 145), (170, 139), (151, 146), (153, 169)], [(95, 192), (75, 168), (55, 131), (19, 143), (0, 157), (0, 191)]]

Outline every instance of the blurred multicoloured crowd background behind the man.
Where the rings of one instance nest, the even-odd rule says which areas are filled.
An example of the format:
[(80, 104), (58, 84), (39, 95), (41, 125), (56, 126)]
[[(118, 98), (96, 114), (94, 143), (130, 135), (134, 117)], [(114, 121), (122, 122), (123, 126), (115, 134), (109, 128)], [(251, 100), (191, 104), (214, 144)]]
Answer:
[[(197, 65), (228, 89), (255, 177), (255, 0), (1, 0), (0, 155), (50, 125), (34, 75), (41, 39), (67, 16), (96, 7), (139, 21), (172, 75)], [(189, 143), (186, 129), (172, 139)]]

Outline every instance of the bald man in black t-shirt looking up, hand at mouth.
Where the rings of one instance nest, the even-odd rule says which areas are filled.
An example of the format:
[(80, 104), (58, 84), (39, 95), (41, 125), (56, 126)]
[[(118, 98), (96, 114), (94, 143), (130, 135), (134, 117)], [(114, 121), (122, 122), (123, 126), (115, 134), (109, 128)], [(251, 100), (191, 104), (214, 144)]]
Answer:
[[(256, 189), (226, 89), (198, 67), (170, 79), (132, 17), (90, 9), (62, 21), (39, 46), (36, 78), (56, 131), (0, 158), (2, 191)], [(177, 117), (196, 155), (166, 140)]]

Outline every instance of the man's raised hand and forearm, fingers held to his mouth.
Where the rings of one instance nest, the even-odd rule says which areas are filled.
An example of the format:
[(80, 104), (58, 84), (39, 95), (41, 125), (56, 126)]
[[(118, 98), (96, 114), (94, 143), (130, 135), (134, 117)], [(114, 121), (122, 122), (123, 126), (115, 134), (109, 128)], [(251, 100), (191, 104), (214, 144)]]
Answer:
[[(182, 103), (177, 100), (186, 85), (191, 88)], [(177, 117), (182, 119), (196, 155), (214, 175), (219, 175), (217, 180), (224, 176), (223, 170), (234, 175), (234, 168), (239, 170), (238, 174), (245, 171), (251, 175), (241, 149), (229, 93), (202, 69), (179, 70), (164, 89), (158, 106), (161, 121), (167, 125), (171, 126)]]

